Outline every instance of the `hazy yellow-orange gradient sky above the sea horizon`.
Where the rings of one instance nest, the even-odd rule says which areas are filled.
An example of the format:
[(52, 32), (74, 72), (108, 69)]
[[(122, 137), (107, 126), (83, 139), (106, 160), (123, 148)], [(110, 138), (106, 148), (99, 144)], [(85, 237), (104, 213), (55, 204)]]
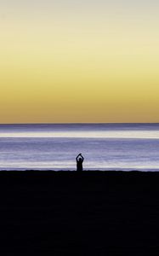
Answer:
[(0, 0), (0, 123), (159, 122), (158, 0)]

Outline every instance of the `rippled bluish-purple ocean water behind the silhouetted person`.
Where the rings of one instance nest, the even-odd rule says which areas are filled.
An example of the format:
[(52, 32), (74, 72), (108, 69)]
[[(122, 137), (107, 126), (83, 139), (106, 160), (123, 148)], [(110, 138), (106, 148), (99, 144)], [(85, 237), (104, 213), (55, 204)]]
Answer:
[(159, 124), (0, 125), (0, 170), (159, 171)]

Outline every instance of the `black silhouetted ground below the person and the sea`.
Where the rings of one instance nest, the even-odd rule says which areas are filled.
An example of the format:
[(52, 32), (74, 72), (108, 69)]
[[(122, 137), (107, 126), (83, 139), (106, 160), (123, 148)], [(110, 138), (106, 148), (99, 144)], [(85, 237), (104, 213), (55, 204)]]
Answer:
[(0, 172), (0, 255), (159, 255), (158, 172)]

